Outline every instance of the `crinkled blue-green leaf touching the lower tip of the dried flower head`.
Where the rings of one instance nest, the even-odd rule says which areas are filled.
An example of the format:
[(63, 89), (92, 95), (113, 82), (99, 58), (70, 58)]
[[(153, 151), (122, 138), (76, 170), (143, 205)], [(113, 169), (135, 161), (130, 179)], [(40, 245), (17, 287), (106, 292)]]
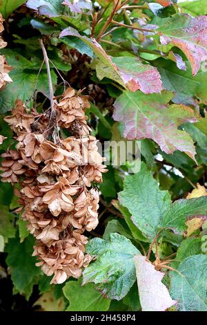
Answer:
[(88, 254), (97, 256), (83, 271), (83, 284), (98, 284), (101, 293), (110, 298), (120, 300), (135, 283), (135, 264), (133, 257), (139, 250), (126, 237), (110, 234), (107, 241), (95, 238), (86, 246)]

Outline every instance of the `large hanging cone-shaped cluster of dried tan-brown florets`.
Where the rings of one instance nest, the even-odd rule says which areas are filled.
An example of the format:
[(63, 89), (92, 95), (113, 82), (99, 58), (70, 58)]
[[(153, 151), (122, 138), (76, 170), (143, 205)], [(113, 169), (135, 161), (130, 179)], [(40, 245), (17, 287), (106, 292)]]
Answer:
[[(98, 223), (99, 193), (90, 188), (101, 182), (106, 171), (97, 151), (97, 140), (90, 136), (85, 111), (86, 96), (69, 88), (55, 111), (29, 112), (17, 100), (6, 122), (16, 134), (17, 150), (2, 155), (1, 180), (21, 184), (14, 188), (23, 210), (22, 218), (37, 239), (34, 256), (43, 272), (60, 284), (81, 276), (90, 256), (84, 254), (87, 237)], [(51, 126), (51, 116), (53, 125)], [(72, 136), (59, 135), (61, 127)], [(51, 131), (52, 128), (52, 131)]]

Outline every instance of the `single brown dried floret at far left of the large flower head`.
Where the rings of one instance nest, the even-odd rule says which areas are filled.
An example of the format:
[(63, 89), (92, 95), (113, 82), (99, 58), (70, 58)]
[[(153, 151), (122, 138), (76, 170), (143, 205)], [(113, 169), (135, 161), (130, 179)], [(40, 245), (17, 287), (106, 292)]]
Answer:
[(19, 156), (18, 151), (9, 150), (1, 155), (3, 161), (1, 162), (0, 170), (3, 171), (1, 176), (1, 182), (3, 183), (18, 183), (19, 176), (21, 176), (26, 168), (23, 167), (21, 162), (21, 157)]

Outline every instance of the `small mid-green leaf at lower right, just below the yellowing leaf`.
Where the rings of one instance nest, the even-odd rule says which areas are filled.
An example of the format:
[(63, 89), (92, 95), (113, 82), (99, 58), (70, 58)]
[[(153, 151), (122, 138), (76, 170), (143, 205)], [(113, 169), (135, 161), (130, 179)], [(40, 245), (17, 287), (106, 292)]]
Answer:
[(202, 254), (201, 237), (186, 238), (179, 245), (175, 261), (172, 261), (170, 266), (176, 269), (184, 259), (197, 254)]

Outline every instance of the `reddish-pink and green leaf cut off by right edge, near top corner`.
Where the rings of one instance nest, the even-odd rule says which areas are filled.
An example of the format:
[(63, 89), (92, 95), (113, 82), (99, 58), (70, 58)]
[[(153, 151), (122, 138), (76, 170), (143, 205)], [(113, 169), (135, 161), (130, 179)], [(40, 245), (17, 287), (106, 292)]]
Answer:
[(201, 62), (207, 62), (207, 17), (191, 17), (188, 14), (172, 17), (157, 29), (161, 44), (168, 43), (180, 48), (192, 67), (193, 75), (199, 71)]

